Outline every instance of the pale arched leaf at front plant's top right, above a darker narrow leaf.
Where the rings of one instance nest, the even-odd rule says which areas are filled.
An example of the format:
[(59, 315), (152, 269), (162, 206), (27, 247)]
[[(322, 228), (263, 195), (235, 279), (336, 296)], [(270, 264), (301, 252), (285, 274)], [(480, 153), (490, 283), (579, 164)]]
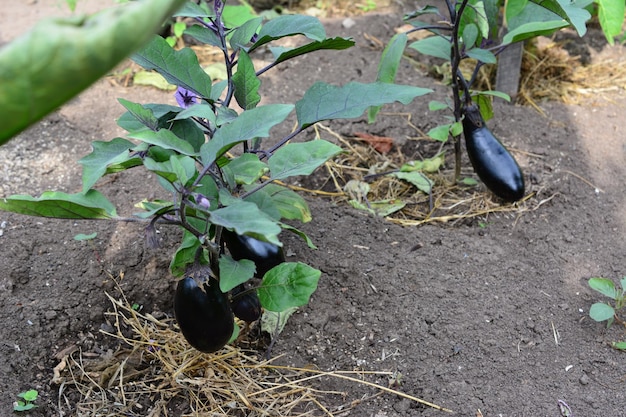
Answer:
[(248, 52), (273, 40), (294, 35), (304, 35), (314, 41), (322, 41), (326, 38), (326, 30), (324, 25), (313, 16), (281, 15), (263, 25), (257, 41)]

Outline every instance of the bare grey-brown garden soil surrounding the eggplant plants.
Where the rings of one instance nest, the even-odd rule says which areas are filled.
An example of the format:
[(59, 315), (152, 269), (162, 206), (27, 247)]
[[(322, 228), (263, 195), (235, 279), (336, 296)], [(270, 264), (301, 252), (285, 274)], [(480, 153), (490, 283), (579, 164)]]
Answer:
[[(45, 15), (64, 13), (60, 3), (2, 3), (0, 40), (10, 40)], [(79, 7), (90, 5), (79, 2)], [(325, 21), (329, 34), (352, 36), (356, 47), (295, 59), (268, 73), (265, 102), (293, 103), (317, 80), (375, 79), (381, 49), (373, 39), (388, 40), (401, 14), (354, 17), (349, 28), (342, 23)], [(621, 46), (600, 42), (589, 50), (592, 58), (610, 57), (624, 65)], [(363, 118), (325, 125), (345, 136), (392, 137), (398, 149), (413, 149), (409, 157), (416, 159), (419, 146), (406, 146), (415, 136), (406, 114), (428, 131), (444, 119), (428, 112), (427, 101), (444, 100), (448, 90), (409, 61), (403, 61), (398, 82), (434, 93), (384, 108), (373, 125)], [(626, 276), (626, 98), (625, 86), (616, 87), (588, 94), (578, 105), (539, 103), (544, 114), (496, 103), (489, 127), (514, 149), (528, 192), (535, 193), (532, 211), (403, 227), (303, 193), (313, 220), (299, 227), (318, 249), (295, 236), (281, 238), (289, 260), (309, 263), (322, 277), (272, 355), (282, 355), (284, 365), (327, 371), (389, 371), (394, 374), (369, 380), (387, 386), (391, 378), (396, 389), (459, 416), (623, 415), (626, 356), (610, 342), (624, 340), (625, 329), (616, 324), (607, 330), (589, 318), (590, 306), (606, 299), (587, 284), (591, 277), (618, 282)], [(0, 149), (0, 196), (80, 191), (77, 160), (90, 152), (90, 143), (123, 135), (115, 125), (123, 112), (118, 97), (175, 104), (171, 92), (124, 86), (117, 78), (99, 81)], [(275, 129), (272, 138), (290, 127)], [(324, 131), (321, 135), (335, 140)], [(304, 136), (313, 138), (313, 132)], [(471, 173), (466, 158), (464, 163), (464, 172)], [(327, 177), (320, 169), (313, 181), (293, 183), (311, 186)], [(97, 188), (125, 216), (134, 203), (161, 195), (154, 178), (142, 171), (108, 176)], [(91, 241), (74, 239), (93, 232), (97, 236)], [(163, 227), (159, 236), (160, 248), (149, 249), (136, 223), (0, 212), (0, 415), (11, 415), (16, 395), (31, 388), (39, 391), (39, 407), (24, 415), (75, 413), (65, 397), (59, 398), (53, 369), (76, 347), (90, 357), (120, 347), (119, 340), (100, 333), (111, 324), (104, 314), (111, 309), (105, 292), (115, 295), (121, 288), (142, 311), (172, 316), (176, 281), (168, 265), (180, 234)], [(317, 386), (345, 393), (322, 395), (334, 415), (448, 414), (335, 378)], [(341, 413), (333, 408), (339, 404), (352, 408)], [(170, 415), (181, 412), (172, 409)]]

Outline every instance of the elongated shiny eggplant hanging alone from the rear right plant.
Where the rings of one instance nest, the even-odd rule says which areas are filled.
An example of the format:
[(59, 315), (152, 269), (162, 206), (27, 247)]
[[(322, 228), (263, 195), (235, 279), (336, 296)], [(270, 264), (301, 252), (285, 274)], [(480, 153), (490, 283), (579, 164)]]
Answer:
[(463, 134), (474, 171), (496, 196), (517, 201), (524, 196), (524, 176), (513, 156), (485, 126), (476, 105), (464, 109)]

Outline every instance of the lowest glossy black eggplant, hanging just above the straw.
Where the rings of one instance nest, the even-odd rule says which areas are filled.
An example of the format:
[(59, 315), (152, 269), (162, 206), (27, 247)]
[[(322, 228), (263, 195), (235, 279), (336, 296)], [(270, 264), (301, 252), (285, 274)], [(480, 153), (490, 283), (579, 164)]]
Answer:
[(193, 278), (178, 281), (174, 313), (185, 339), (201, 352), (220, 350), (234, 331), (230, 301), (214, 278), (204, 283), (204, 290)]

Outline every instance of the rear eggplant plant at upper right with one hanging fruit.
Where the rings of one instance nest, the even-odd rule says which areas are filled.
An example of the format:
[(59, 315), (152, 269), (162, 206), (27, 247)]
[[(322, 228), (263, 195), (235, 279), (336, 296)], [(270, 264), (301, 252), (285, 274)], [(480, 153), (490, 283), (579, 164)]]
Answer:
[[(622, 0), (599, 2), (600, 14), (614, 34), (615, 19), (607, 19), (607, 9), (612, 3)], [(492, 97), (510, 100), (498, 91), (472, 89), (479, 69), (485, 64), (497, 62), (498, 55), (509, 45), (539, 35), (549, 35), (564, 27), (573, 27), (579, 36), (586, 32), (586, 22), (591, 14), (586, 8), (593, 0), (446, 0), (442, 7), (424, 6), (404, 18), (412, 26), (407, 32), (391, 38), (379, 63), (378, 80), (392, 83), (405, 49), (444, 60), (449, 64), (449, 86), (451, 100), (431, 101), (433, 112), (448, 110), (447, 121), (429, 130), (428, 136), (442, 143), (450, 137), (454, 141), (455, 180), (459, 180), (461, 169), (461, 134), (465, 136), (470, 162), (479, 178), (496, 196), (505, 201), (517, 201), (524, 196), (524, 179), (519, 165), (502, 143), (487, 128), (485, 122), (493, 117)], [(427, 21), (427, 17), (433, 17)], [(502, 38), (503, 24), (506, 34)], [(416, 31), (430, 32), (431, 36), (408, 43), (409, 34)], [(475, 61), (471, 76), (460, 70), (465, 59)], [(369, 110), (370, 121), (378, 112), (377, 107)], [(440, 153), (440, 152), (438, 152)]]

